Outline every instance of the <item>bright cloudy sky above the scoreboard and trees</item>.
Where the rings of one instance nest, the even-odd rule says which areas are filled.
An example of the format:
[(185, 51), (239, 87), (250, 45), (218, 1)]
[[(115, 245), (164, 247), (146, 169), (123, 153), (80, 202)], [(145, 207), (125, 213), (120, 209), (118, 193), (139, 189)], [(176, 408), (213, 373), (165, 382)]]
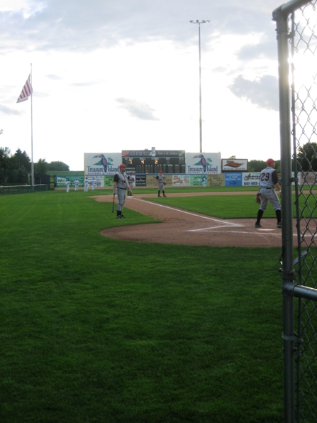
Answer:
[(0, 0), (0, 146), (83, 170), (84, 153), (279, 159), (278, 0)]

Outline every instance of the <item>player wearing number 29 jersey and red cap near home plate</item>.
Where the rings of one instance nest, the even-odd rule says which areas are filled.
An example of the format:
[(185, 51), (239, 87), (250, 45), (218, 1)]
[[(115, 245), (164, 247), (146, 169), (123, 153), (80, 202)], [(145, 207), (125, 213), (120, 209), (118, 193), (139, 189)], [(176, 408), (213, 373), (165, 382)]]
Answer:
[(279, 180), (277, 177), (277, 170), (275, 170), (275, 161), (273, 159), (267, 160), (267, 167), (260, 173), (260, 209), (257, 212), (257, 221), (255, 222), (255, 228), (261, 228), (260, 220), (263, 213), (267, 209), (267, 203), (270, 202), (274, 207), (275, 214), (277, 216), (277, 227), (282, 228), (282, 212), (281, 205), (279, 204), (279, 198), (275, 188), (281, 194), (281, 187), (279, 186)]

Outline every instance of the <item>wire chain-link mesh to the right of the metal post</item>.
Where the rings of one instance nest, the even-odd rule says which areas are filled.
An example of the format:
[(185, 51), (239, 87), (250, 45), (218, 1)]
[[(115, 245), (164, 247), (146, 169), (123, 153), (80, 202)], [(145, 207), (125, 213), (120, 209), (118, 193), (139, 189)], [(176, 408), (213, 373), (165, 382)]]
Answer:
[[(316, 0), (291, 14), (291, 79), (299, 284), (317, 287), (317, 11)], [(304, 256), (305, 255), (305, 256)], [(317, 422), (317, 303), (299, 298), (296, 304), (297, 421)]]

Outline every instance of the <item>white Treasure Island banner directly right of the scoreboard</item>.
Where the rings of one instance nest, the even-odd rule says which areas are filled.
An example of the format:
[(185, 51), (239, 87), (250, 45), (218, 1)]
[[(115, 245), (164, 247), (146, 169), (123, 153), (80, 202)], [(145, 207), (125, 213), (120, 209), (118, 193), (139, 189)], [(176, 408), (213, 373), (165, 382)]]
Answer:
[(221, 173), (221, 153), (186, 153), (185, 173)]

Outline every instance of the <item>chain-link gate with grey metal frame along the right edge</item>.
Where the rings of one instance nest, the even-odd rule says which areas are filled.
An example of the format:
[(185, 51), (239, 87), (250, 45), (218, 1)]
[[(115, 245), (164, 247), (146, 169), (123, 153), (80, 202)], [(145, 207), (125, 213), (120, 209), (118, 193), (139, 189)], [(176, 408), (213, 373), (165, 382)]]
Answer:
[(279, 60), (282, 337), (287, 423), (317, 422), (316, 3), (317, 0), (292, 0), (273, 11)]

